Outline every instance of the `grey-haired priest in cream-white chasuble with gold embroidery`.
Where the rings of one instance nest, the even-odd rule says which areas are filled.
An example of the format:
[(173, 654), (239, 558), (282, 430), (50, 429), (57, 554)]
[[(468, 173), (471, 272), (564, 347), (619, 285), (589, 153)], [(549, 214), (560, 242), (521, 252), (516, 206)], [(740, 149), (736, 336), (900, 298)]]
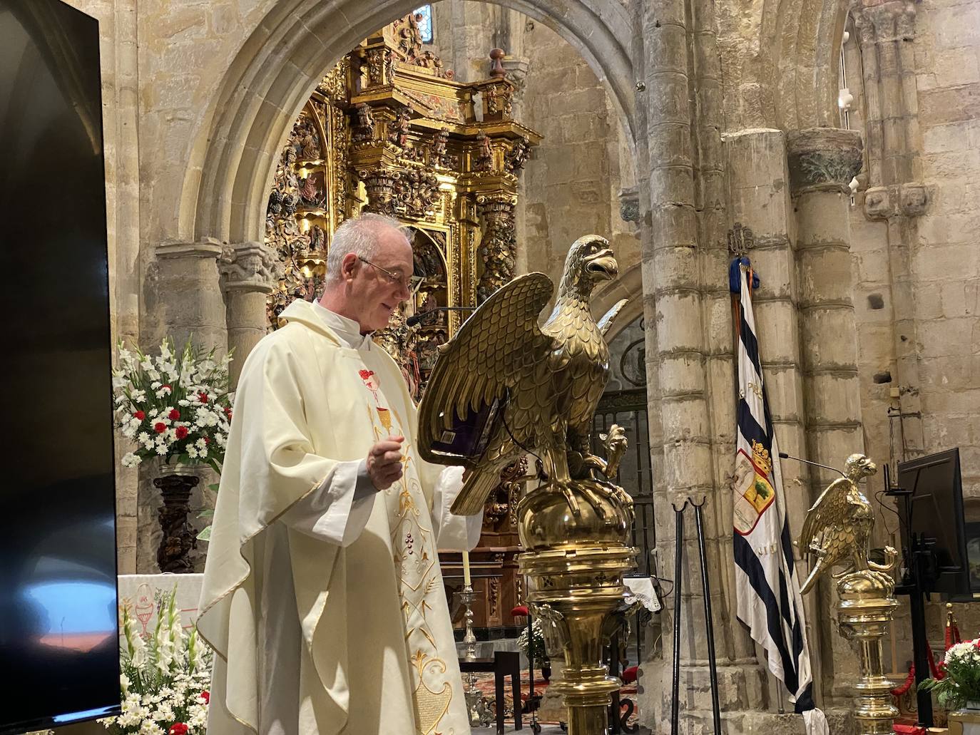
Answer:
[(438, 549), (481, 518), (463, 470), (427, 465), (416, 407), (371, 340), (409, 298), (399, 223), (342, 224), (319, 303), (245, 361), (198, 629), (215, 648), (214, 735), (466, 735)]

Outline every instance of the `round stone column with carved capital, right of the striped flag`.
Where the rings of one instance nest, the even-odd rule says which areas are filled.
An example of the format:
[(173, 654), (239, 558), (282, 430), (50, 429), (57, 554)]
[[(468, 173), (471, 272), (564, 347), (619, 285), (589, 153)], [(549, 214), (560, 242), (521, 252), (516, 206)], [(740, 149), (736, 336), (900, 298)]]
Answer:
[[(803, 343), (807, 454), (842, 466), (862, 452), (857, 333), (851, 275), (851, 179), (861, 168), (860, 134), (821, 127), (788, 134), (790, 190), (797, 222), (800, 337)], [(817, 497), (836, 474), (812, 467), (810, 497)], [(831, 585), (821, 584), (819, 606), (831, 604)], [(846, 681), (858, 672), (848, 644), (822, 621), (826, 697), (844, 697)]]

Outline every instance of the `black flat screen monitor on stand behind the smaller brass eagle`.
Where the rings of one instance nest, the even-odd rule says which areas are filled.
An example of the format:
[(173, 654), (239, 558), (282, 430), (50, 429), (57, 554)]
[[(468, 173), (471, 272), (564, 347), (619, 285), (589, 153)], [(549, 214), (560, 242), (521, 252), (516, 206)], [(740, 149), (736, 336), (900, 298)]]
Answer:
[[(934, 573), (923, 579), (924, 592), (965, 595), (970, 591), (963, 517), (963, 489), (959, 477), (959, 450), (920, 457), (899, 465), (899, 487), (911, 492), (910, 530), (920, 538), (935, 539)], [(909, 548), (903, 525), (902, 544)]]

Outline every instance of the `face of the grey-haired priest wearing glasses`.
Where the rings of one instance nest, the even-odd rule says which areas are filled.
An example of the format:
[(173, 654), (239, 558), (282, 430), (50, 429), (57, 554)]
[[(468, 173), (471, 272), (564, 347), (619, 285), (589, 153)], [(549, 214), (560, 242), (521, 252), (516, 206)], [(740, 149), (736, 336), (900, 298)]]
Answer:
[(378, 235), (377, 248), (369, 260), (370, 265), (358, 263), (349, 297), (365, 332), (387, 326), (398, 305), (411, 296), (412, 246), (401, 231), (386, 228)]

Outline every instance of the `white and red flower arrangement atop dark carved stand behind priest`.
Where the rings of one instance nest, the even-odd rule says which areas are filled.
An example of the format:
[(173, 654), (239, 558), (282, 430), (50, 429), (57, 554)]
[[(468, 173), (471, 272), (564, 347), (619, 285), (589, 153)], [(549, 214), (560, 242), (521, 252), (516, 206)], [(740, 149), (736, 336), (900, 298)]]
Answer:
[(221, 473), (233, 400), (230, 360), (230, 355), (216, 359), (215, 350), (199, 352), (189, 341), (175, 355), (165, 339), (155, 357), (120, 342), (119, 368), (113, 371), (116, 421), (135, 445), (123, 456), (123, 466), (159, 458)]

